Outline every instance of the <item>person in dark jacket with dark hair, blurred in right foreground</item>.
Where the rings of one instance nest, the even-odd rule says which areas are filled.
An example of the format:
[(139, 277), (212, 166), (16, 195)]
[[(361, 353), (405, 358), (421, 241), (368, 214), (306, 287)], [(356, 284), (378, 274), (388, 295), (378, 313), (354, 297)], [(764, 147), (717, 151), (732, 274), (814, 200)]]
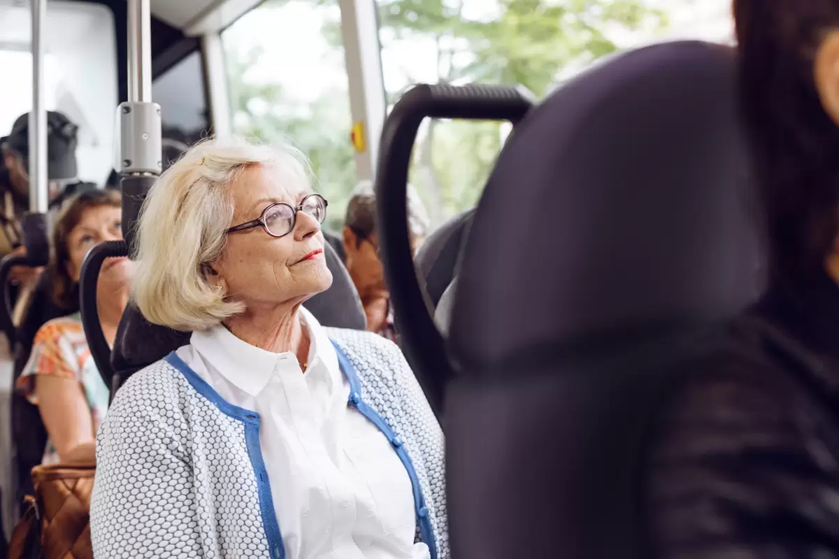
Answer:
[(670, 399), (660, 557), (839, 557), (839, 1), (735, 0), (769, 287)]

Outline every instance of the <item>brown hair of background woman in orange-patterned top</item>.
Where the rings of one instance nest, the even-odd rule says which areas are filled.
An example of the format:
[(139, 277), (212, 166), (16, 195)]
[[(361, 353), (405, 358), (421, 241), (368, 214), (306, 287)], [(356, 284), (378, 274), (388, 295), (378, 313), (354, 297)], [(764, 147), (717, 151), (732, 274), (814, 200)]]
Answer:
[(61, 207), (52, 233), (52, 254), (47, 272), (53, 282), (53, 300), (60, 308), (75, 308), (79, 303), (78, 285), (67, 271), (70, 249), (67, 246), (70, 231), (79, 225), (89, 208), (100, 206), (122, 207), (120, 193), (113, 189), (92, 189), (68, 199)]

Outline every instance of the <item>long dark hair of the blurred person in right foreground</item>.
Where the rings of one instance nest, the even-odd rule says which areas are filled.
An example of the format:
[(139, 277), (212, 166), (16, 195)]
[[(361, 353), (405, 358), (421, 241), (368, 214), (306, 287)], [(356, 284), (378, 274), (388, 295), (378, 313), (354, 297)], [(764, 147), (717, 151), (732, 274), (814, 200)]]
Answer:
[(839, 232), (839, 126), (814, 59), (837, 0), (734, 0), (741, 104), (775, 281), (824, 269)]

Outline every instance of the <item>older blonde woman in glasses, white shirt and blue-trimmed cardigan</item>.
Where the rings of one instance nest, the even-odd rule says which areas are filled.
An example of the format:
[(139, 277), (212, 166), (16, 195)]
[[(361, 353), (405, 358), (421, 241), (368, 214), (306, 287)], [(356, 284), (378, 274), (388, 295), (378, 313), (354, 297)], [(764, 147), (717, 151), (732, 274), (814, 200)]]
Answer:
[(96, 556), (449, 556), (443, 436), (399, 349), (301, 306), (332, 281), (309, 176), (213, 141), (149, 192), (134, 300), (193, 334), (102, 424)]

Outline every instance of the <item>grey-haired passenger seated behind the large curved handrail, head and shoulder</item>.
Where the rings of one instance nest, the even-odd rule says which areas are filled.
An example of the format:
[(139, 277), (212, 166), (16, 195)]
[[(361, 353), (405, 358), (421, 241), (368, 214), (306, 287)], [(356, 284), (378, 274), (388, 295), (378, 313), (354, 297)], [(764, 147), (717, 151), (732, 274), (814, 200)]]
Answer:
[[(411, 247), (415, 251), (425, 239), (429, 218), (416, 189), (408, 189), (408, 225)], [(331, 241), (336, 246), (336, 241)], [(341, 231), (340, 250), (352, 282), (367, 314), (367, 329), (396, 341), (390, 291), (384, 278), (378, 253), (376, 227), (376, 194), (373, 183), (363, 181), (352, 193), (347, 205), (347, 218)]]

